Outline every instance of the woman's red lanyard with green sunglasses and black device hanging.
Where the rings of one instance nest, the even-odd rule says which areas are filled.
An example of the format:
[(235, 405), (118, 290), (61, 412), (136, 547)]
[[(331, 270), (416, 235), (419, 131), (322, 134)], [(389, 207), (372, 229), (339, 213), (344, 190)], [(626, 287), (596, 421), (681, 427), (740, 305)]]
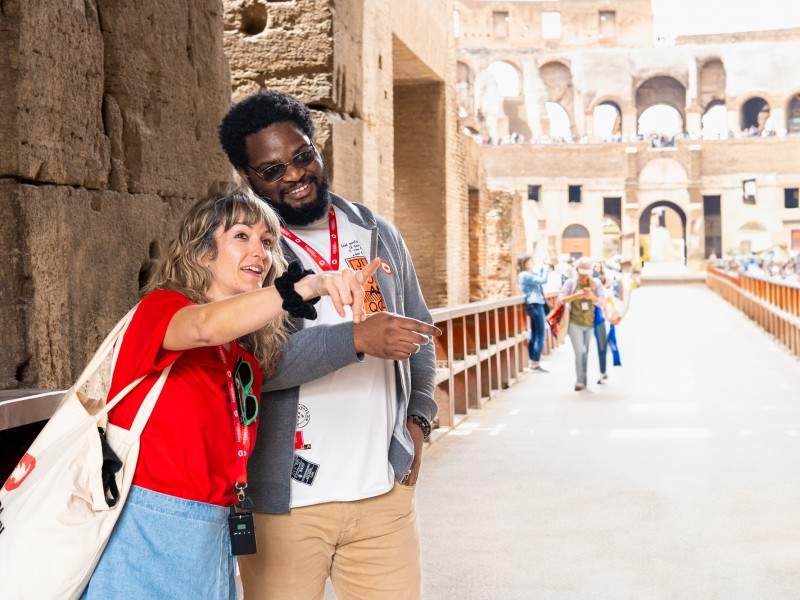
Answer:
[[(228, 531), (231, 538), (231, 554), (241, 556), (255, 554), (256, 529), (253, 523), (253, 501), (247, 495), (247, 458), (252, 449), (250, 425), (258, 416), (258, 397), (253, 393), (253, 370), (250, 363), (240, 358), (233, 373), (228, 368), (225, 352), (218, 347), (219, 356), (225, 365), (228, 384), (228, 402), (231, 409), (233, 429), (236, 435), (236, 482), (233, 492), (237, 504), (230, 507)], [(258, 391), (258, 390), (256, 390)]]

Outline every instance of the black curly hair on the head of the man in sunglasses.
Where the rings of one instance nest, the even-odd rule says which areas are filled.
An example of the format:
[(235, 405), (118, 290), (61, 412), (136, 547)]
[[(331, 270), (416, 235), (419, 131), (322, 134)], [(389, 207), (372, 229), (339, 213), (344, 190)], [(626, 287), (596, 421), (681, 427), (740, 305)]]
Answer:
[(309, 139), (314, 138), (311, 113), (305, 104), (289, 94), (262, 90), (231, 106), (219, 126), (219, 141), (231, 164), (244, 169), (248, 165), (244, 138), (283, 121), (295, 123)]

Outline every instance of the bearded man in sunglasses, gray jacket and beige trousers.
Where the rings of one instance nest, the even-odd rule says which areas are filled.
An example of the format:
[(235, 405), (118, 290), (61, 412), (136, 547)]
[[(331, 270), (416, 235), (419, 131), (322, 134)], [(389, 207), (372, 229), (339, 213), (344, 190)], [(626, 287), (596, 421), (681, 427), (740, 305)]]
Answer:
[(263, 390), (250, 460), (258, 554), (239, 558), (245, 596), (340, 600), (421, 596), (414, 484), (436, 414), (440, 332), (397, 230), (331, 193), (311, 115), (263, 91), (220, 126), (228, 158), (281, 216), (288, 260), (314, 271), (381, 268), (365, 284), (370, 316), (353, 324), (327, 299), (292, 323)]

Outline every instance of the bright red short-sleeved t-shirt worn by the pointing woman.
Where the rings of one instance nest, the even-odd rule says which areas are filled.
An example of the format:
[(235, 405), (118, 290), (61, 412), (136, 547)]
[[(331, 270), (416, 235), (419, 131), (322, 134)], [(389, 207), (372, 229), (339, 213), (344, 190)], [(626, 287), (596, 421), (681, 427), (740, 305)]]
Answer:
[[(156, 290), (142, 299), (123, 338), (108, 397), (147, 376), (111, 411), (109, 420), (129, 429), (145, 395), (172, 364), (142, 433), (133, 483), (171, 496), (229, 506), (235, 501), (233, 484), (238, 473), (228, 374), (240, 357), (247, 360), (253, 369), (252, 391), (260, 402), (261, 368), (235, 341), (225, 352), (225, 363), (219, 346), (164, 350), (161, 345), (172, 317), (191, 304), (183, 294), (168, 290)], [(257, 429), (256, 420), (249, 427), (251, 438)]]

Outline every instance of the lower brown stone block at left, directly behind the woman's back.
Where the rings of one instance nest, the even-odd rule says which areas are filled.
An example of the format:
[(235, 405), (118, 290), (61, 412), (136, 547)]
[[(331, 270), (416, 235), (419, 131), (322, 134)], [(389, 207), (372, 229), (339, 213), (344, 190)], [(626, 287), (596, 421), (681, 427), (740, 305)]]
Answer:
[[(13, 233), (0, 229), (4, 253), (17, 271), (0, 312), (0, 325), (4, 332), (10, 326), (14, 342), (0, 351), (4, 387), (71, 385), (138, 300), (140, 272), (166, 249), (191, 202), (0, 183), (0, 210), (13, 213), (8, 222), (22, 241), (9, 246), (19, 249), (10, 253), (6, 244)], [(4, 272), (4, 284), (6, 277)]]

